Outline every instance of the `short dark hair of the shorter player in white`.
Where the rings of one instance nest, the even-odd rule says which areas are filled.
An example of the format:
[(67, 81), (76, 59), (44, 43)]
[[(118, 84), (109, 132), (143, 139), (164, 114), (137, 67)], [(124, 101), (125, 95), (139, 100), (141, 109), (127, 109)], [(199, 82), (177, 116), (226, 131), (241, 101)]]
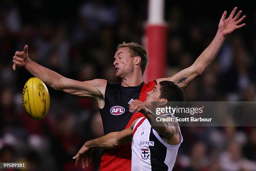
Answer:
[(185, 101), (186, 96), (182, 88), (172, 81), (161, 81), (159, 82), (160, 87), (160, 96), (159, 98), (165, 98), (167, 101)]

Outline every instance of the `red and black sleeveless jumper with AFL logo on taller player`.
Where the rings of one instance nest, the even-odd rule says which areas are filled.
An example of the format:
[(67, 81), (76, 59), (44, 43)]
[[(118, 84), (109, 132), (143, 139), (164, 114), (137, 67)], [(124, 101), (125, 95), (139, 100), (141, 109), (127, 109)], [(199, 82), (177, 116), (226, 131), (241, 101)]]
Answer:
[[(132, 100), (146, 101), (146, 93), (153, 90), (156, 80), (142, 82), (134, 87), (123, 87), (121, 83), (107, 83), (105, 106), (100, 109), (104, 134), (122, 131), (143, 116), (142, 113), (129, 112)], [(131, 171), (131, 143), (116, 149), (104, 150), (100, 162), (100, 171)]]

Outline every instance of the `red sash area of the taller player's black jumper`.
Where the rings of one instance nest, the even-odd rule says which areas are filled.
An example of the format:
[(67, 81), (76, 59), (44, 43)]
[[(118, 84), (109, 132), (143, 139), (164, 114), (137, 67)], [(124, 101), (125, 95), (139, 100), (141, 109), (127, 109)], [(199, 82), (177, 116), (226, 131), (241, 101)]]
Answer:
[[(156, 80), (144, 84), (138, 100), (146, 101), (147, 93), (152, 91), (156, 84)], [(129, 128), (133, 121), (141, 117), (144, 117), (142, 113), (133, 113), (125, 129)], [(131, 171), (131, 143), (103, 153), (100, 161), (100, 171)]]

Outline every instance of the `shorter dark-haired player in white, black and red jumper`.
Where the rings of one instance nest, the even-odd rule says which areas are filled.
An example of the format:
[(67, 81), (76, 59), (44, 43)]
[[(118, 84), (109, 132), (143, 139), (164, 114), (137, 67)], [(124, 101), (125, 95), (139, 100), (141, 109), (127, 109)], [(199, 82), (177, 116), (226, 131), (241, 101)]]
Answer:
[(144, 103), (134, 100), (129, 105), (131, 112), (141, 112), (146, 117), (136, 119), (123, 131), (108, 133), (84, 143), (73, 157), (76, 165), (81, 160), (83, 168), (86, 167), (94, 147), (117, 148), (132, 142), (132, 171), (171, 171), (183, 141), (178, 123), (158, 122), (154, 126), (151, 121), (159, 116), (152, 114), (149, 108), (153, 101), (158, 101), (159, 107), (166, 106), (168, 101), (185, 101), (184, 92), (175, 83), (164, 80), (147, 93), (146, 99)]

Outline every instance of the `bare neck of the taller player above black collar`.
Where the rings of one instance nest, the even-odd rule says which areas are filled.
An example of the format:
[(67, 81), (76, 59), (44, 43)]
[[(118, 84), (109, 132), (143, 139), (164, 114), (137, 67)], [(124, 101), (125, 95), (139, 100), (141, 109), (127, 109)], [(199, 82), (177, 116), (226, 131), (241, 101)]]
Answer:
[(142, 75), (128, 75), (125, 78), (122, 78), (121, 85), (124, 87), (138, 86), (142, 83)]

